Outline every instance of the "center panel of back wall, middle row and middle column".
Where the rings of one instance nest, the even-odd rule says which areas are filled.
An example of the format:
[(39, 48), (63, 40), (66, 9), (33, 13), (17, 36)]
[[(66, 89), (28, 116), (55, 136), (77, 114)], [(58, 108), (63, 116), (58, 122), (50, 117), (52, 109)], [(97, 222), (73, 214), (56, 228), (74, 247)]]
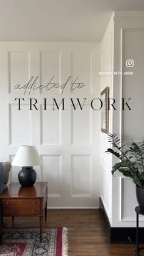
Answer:
[(43, 145), (60, 145), (61, 144), (61, 111), (52, 110), (52, 104), (41, 105), (41, 144)]

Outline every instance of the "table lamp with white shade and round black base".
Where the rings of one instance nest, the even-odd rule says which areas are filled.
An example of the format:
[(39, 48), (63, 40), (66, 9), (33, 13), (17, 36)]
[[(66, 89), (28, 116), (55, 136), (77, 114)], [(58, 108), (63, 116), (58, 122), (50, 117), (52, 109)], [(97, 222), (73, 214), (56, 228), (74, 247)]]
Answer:
[(20, 146), (13, 159), (12, 166), (22, 166), (18, 173), (18, 180), (23, 187), (33, 186), (37, 178), (37, 172), (33, 166), (40, 166), (41, 159), (35, 146)]

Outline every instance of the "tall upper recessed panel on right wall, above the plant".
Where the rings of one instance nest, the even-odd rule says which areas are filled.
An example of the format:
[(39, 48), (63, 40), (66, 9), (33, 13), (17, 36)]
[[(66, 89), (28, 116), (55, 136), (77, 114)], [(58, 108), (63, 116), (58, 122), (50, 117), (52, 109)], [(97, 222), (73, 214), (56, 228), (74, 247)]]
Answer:
[[(132, 42), (132, 43), (131, 43)], [(139, 47), (137, 47), (139, 45)], [(129, 106), (132, 109), (123, 111), (123, 136), (125, 142), (142, 141), (144, 117), (143, 105), (143, 59), (144, 59), (144, 29), (124, 30), (123, 32), (123, 67), (124, 71), (133, 71), (133, 75), (123, 77), (123, 98), (131, 98)], [(127, 60), (132, 59), (128, 62)], [(132, 65), (132, 67), (131, 67)], [(135, 89), (136, 92), (135, 93)], [(138, 126), (139, 124), (139, 126)], [(137, 132), (135, 132), (137, 131)]]

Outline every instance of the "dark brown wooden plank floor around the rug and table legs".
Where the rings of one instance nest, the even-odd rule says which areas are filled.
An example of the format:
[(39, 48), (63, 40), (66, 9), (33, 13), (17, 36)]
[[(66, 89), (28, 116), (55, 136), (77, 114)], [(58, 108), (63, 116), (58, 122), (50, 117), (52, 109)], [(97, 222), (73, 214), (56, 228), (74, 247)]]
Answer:
[[(4, 218), (4, 226), (12, 226)], [(69, 256), (134, 256), (134, 244), (109, 244), (99, 210), (48, 210), (44, 227), (68, 227)], [(15, 227), (38, 227), (38, 218), (15, 218)], [(144, 251), (140, 256), (144, 255)]]

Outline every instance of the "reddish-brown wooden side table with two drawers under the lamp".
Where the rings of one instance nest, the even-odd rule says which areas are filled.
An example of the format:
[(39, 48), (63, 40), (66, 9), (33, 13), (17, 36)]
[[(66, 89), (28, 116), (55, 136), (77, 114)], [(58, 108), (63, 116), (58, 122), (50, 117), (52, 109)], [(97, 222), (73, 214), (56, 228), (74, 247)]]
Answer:
[(47, 216), (48, 183), (36, 182), (34, 186), (22, 187), (13, 182), (0, 195), (3, 217), (39, 216), (40, 242), (42, 241), (43, 215)]

